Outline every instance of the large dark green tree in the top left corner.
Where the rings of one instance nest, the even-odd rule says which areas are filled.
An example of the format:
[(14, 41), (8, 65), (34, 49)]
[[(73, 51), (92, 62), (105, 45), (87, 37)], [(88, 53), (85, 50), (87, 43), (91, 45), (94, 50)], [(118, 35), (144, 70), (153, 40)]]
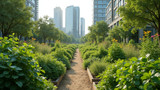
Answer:
[(30, 34), (33, 21), (31, 8), (26, 7), (26, 0), (0, 0), (0, 31), (2, 36), (16, 33)]

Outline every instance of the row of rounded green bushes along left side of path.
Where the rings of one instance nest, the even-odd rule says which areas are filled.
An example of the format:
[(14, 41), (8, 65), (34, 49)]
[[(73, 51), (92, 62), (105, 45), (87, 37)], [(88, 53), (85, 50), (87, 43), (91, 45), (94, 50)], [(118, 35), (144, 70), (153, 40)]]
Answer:
[(56, 80), (70, 69), (70, 60), (73, 58), (76, 45), (63, 45), (56, 42), (50, 54), (36, 54), (40, 66), (45, 71), (43, 74), (47, 79)]

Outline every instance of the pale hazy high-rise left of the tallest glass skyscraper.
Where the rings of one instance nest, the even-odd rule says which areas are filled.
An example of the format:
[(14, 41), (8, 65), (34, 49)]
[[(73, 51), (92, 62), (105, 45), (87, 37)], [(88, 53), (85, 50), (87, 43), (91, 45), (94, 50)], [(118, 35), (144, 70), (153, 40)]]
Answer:
[(62, 30), (63, 28), (63, 14), (62, 9), (60, 7), (54, 8), (54, 23), (55, 26)]

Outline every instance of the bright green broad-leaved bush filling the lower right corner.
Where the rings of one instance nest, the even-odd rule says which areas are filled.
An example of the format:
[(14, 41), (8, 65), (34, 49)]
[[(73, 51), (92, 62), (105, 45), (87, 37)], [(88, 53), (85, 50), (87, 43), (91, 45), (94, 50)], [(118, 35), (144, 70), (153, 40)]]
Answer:
[(118, 69), (117, 89), (160, 89), (160, 60), (154, 61), (147, 58), (132, 58)]

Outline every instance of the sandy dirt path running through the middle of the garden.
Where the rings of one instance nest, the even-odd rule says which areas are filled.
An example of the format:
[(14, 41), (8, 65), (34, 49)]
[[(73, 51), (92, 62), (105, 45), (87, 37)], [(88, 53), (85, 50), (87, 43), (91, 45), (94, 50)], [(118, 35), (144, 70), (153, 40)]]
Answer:
[(71, 69), (67, 70), (58, 87), (58, 90), (92, 90), (87, 71), (82, 68), (82, 59), (78, 49), (71, 63)]

